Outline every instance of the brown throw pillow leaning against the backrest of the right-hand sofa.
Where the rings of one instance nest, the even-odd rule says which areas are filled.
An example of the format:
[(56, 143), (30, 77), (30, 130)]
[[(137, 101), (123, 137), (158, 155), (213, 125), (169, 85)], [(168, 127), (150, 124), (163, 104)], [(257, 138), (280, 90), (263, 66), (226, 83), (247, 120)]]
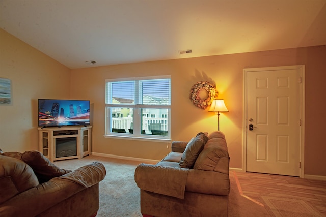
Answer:
[(207, 140), (208, 137), (205, 133), (198, 133), (194, 139), (189, 141), (182, 154), (179, 167), (193, 168), (196, 159), (200, 152), (203, 150)]

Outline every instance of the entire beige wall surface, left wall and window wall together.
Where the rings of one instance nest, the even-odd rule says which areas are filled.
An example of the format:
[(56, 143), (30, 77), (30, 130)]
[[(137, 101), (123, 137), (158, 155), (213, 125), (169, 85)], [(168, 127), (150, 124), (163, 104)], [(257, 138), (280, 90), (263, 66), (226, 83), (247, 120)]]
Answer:
[(199, 131), (212, 132), (217, 129), (216, 115), (196, 108), (188, 99), (189, 89), (194, 83), (201, 80), (214, 81), (220, 92), (219, 97), (225, 99), (230, 110), (220, 116), (220, 130), (226, 134), (230, 166), (241, 168), (243, 68), (305, 65), (305, 174), (326, 176), (326, 168), (321, 166), (326, 165), (326, 146), (322, 137), (322, 127), (326, 122), (326, 103), (323, 100), (326, 92), (325, 46), (70, 71), (1, 29), (0, 34), (0, 77), (9, 78), (13, 82), (13, 105), (0, 106), (0, 148), (5, 151), (38, 148), (38, 98), (70, 97), (91, 100), (93, 152), (159, 160), (170, 151), (170, 145), (167, 148), (166, 143), (103, 137), (105, 79), (171, 75), (172, 139), (187, 141)]

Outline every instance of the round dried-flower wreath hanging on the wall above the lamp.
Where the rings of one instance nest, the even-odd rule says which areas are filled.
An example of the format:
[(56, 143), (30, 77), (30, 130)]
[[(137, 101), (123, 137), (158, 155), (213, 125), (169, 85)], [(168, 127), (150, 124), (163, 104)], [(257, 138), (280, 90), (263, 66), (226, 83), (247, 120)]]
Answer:
[[(208, 97), (206, 99), (201, 99), (200, 92), (206, 91)], [(201, 109), (206, 109), (211, 105), (212, 101), (218, 97), (218, 91), (215, 85), (209, 83), (208, 81), (199, 81), (194, 84), (190, 90), (190, 101), (193, 102), (195, 106)]]

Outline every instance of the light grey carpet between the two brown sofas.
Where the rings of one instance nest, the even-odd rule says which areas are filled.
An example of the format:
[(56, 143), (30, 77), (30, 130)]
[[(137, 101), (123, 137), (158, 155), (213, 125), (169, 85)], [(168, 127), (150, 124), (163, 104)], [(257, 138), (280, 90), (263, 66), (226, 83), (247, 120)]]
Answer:
[(134, 182), (134, 170), (141, 162), (87, 156), (80, 160), (56, 161), (55, 164), (74, 170), (94, 161), (103, 163), (106, 169), (106, 176), (99, 184), (100, 208), (97, 216), (142, 216), (140, 190)]

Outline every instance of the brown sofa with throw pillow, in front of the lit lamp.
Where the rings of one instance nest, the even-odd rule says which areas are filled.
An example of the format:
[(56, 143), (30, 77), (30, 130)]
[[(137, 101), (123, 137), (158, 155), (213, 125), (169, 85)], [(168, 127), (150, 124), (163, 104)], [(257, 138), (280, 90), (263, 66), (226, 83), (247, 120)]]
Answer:
[(228, 216), (229, 154), (220, 131), (172, 142), (172, 152), (156, 165), (140, 164), (143, 216)]

